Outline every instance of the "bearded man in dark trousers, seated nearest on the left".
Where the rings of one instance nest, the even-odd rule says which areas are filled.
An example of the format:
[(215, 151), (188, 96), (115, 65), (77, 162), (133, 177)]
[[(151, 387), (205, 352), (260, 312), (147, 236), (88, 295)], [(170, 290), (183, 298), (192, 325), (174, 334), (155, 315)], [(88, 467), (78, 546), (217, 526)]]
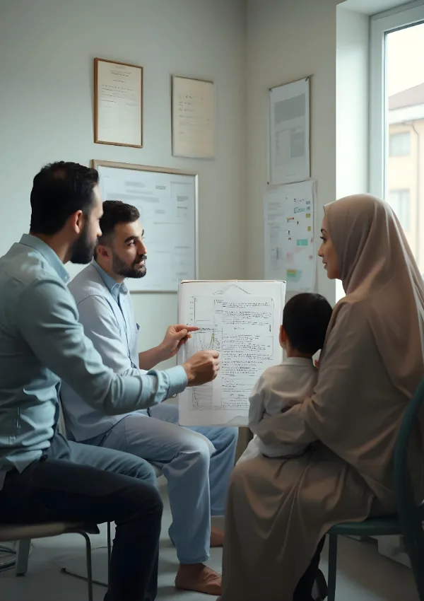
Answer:
[(162, 503), (145, 462), (68, 442), (57, 432), (59, 386), (99, 412), (150, 407), (216, 377), (218, 354), (182, 368), (122, 376), (78, 322), (64, 263), (87, 263), (101, 235), (98, 173), (54, 163), (35, 176), (30, 235), (0, 259), (0, 520), (114, 521), (107, 601), (152, 601)]

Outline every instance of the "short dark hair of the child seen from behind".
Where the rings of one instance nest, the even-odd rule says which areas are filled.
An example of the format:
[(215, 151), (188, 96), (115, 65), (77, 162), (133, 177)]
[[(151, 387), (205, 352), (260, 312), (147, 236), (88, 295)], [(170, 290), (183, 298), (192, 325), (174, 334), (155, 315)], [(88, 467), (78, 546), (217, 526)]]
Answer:
[(290, 298), (283, 313), (283, 328), (290, 346), (305, 355), (322, 349), (331, 312), (331, 305), (321, 294), (304, 293)]

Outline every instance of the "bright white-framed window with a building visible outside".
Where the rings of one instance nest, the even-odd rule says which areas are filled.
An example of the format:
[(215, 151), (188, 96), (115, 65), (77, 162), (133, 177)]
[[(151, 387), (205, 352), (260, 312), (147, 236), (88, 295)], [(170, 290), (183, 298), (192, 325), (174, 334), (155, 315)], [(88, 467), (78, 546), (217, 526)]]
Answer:
[(370, 192), (387, 199), (424, 272), (424, 1), (371, 18)]

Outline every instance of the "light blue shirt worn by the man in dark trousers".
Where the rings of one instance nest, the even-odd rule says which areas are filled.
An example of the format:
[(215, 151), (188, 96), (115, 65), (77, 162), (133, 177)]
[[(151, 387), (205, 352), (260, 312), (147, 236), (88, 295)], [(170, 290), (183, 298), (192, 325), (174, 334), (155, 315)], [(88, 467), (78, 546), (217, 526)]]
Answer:
[(68, 279), (56, 253), (32, 235), (0, 259), (2, 473), (25, 469), (49, 448), (61, 380), (100, 415), (150, 407), (187, 385), (180, 370), (129, 370), (132, 377), (122, 377), (105, 367), (78, 321)]

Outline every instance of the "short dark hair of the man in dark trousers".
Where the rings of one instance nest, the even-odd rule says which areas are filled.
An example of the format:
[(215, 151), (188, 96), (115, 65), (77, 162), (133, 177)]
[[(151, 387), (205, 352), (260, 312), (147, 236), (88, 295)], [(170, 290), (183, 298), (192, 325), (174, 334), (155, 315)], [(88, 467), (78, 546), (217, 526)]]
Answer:
[(45, 165), (35, 175), (31, 191), (31, 233), (53, 235), (76, 211), (88, 216), (98, 181), (95, 169), (78, 163)]

